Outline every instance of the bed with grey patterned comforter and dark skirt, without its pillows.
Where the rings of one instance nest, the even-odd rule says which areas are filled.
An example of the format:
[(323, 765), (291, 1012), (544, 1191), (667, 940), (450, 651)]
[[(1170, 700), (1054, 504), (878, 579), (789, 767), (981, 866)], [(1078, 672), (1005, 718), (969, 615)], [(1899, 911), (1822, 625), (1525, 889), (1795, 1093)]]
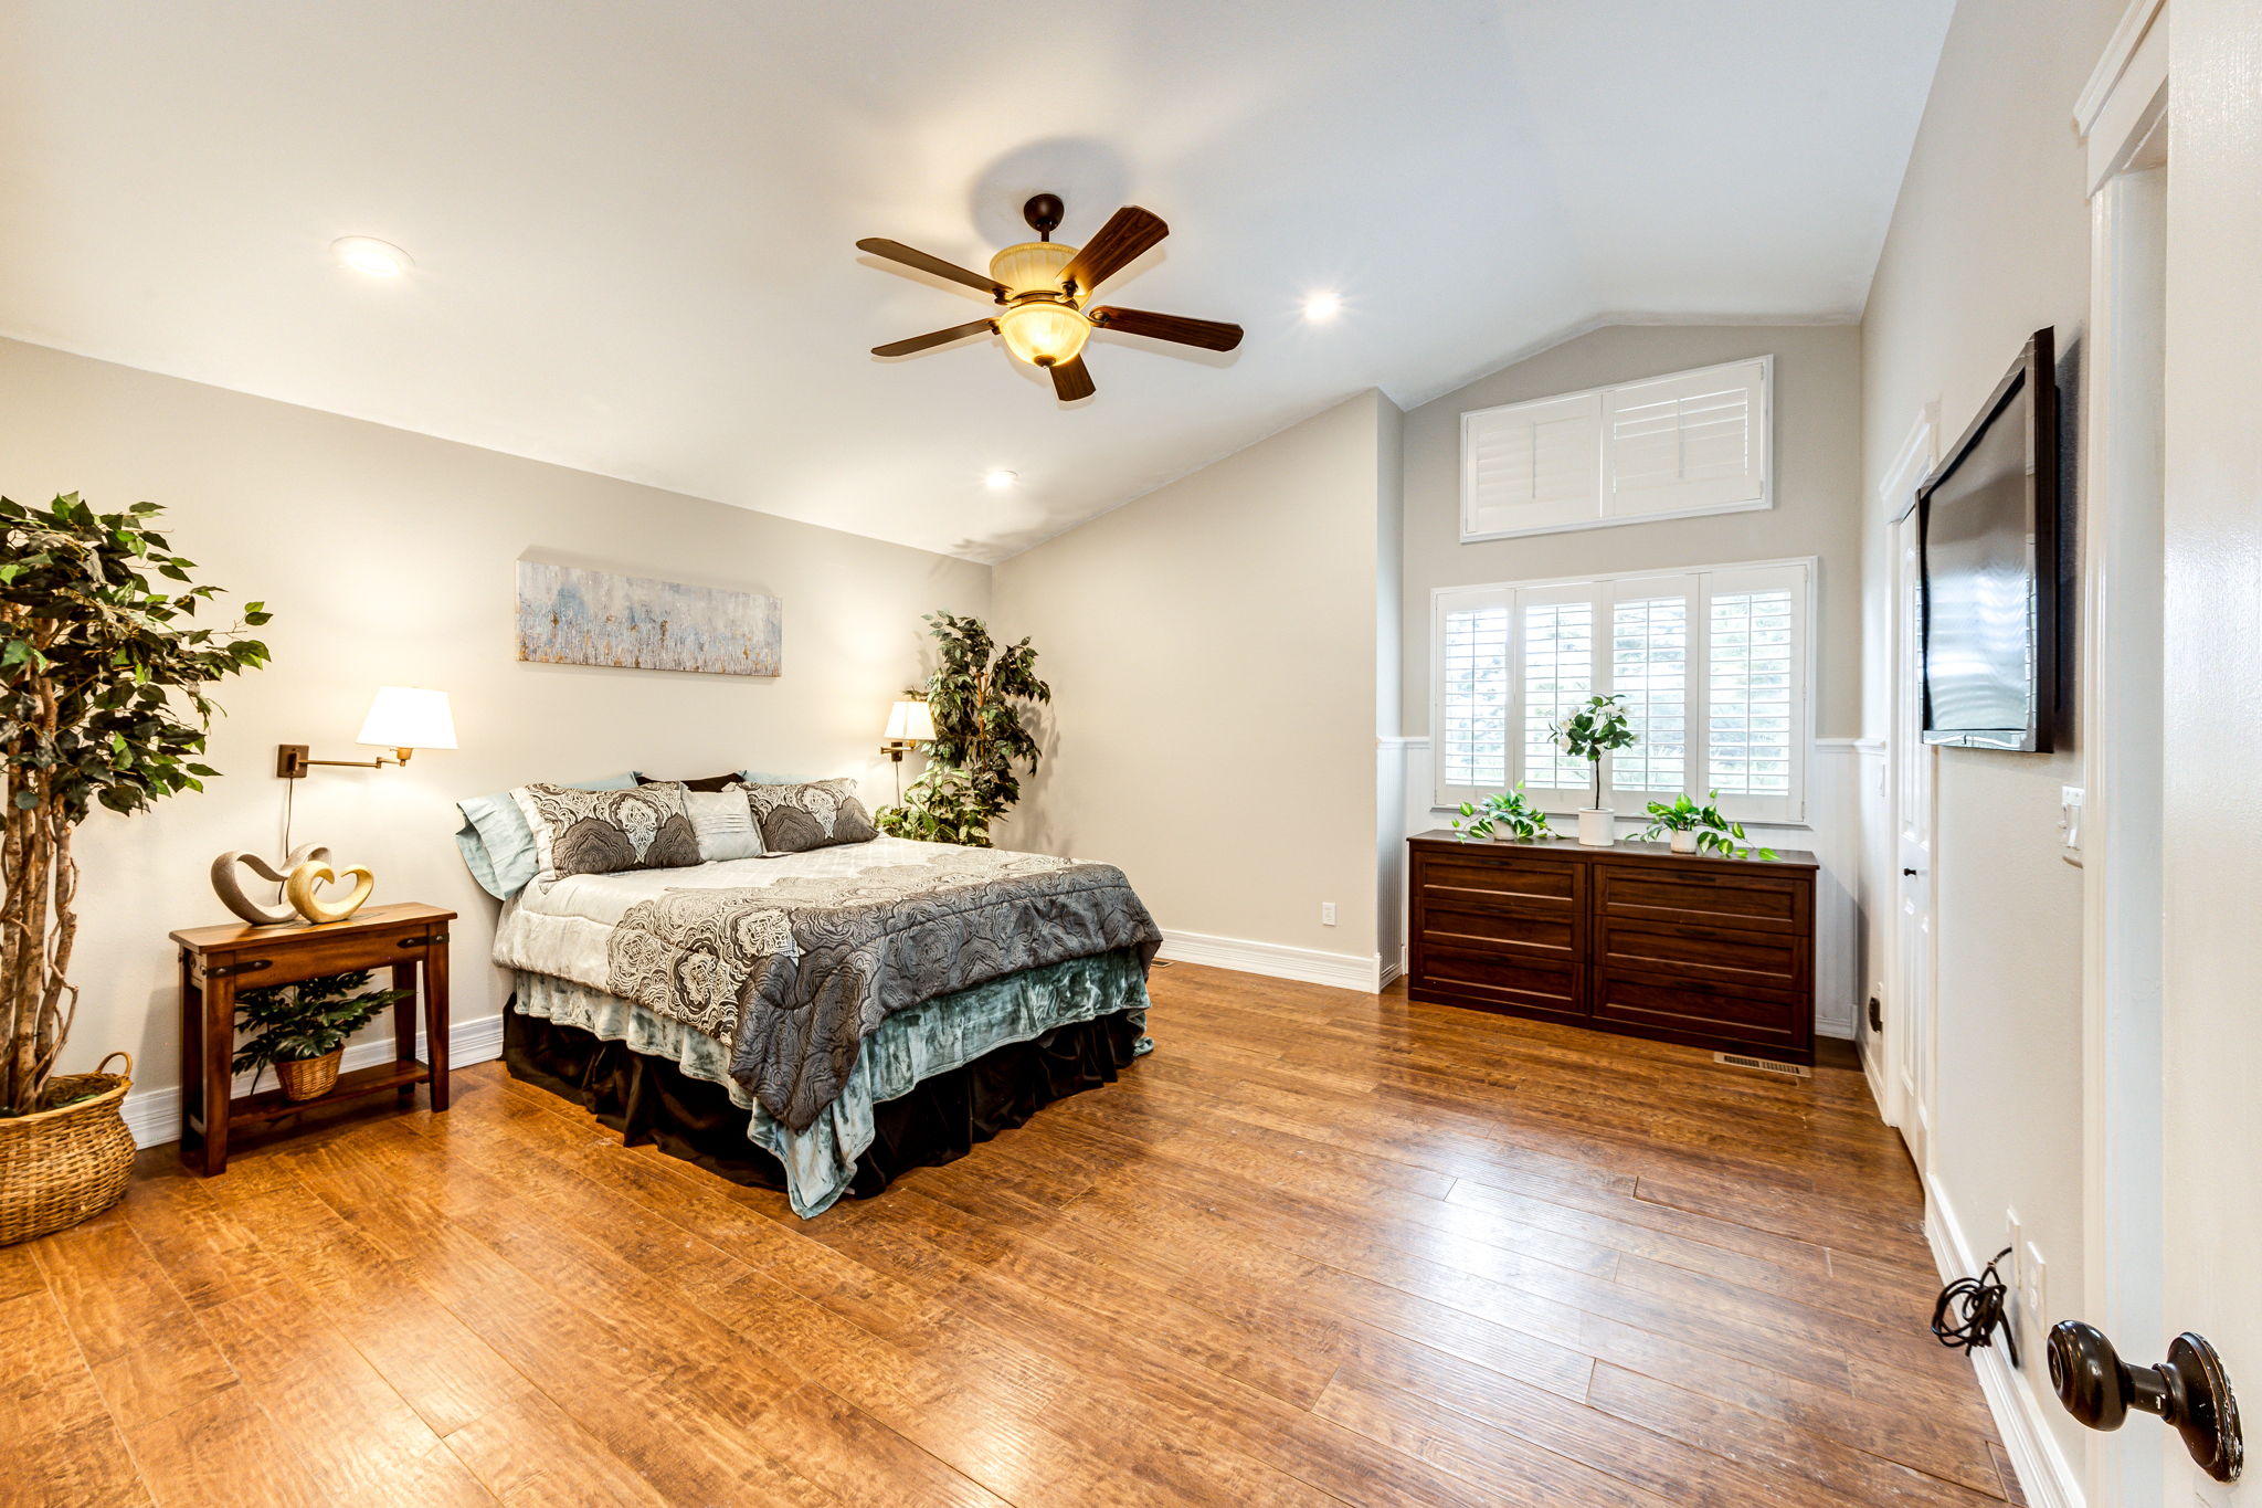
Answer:
[(1122, 870), (875, 837), (529, 884), (509, 1072), (817, 1216), (1113, 1083), (1160, 943)]

